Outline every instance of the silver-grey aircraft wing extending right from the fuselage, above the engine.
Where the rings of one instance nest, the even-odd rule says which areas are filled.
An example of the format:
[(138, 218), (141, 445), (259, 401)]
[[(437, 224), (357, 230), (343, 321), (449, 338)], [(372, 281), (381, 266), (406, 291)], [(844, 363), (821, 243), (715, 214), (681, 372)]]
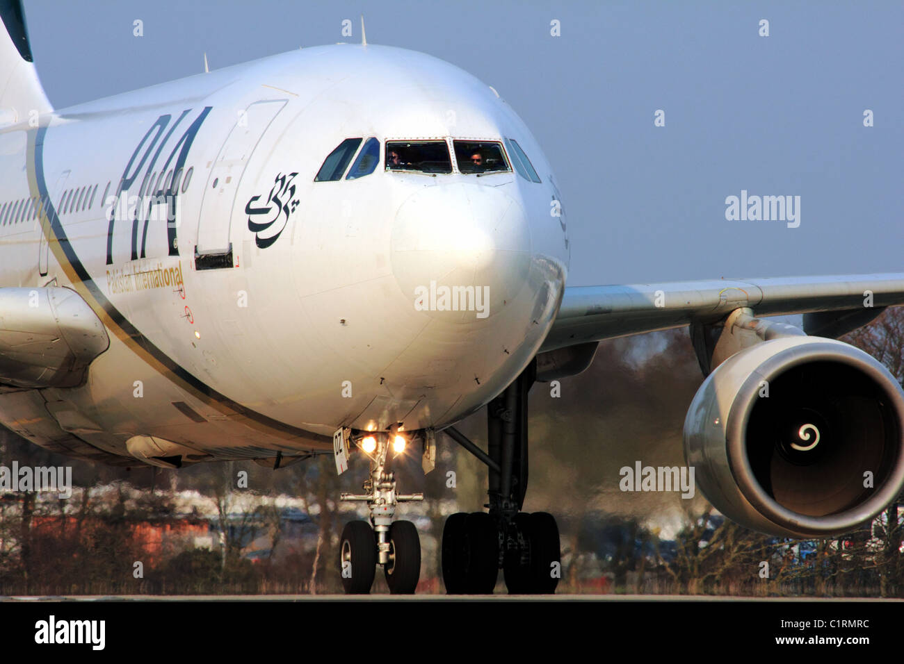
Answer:
[(897, 304), (904, 273), (571, 286), (540, 351), (713, 323), (739, 307), (757, 316), (804, 313), (805, 332), (837, 337)]

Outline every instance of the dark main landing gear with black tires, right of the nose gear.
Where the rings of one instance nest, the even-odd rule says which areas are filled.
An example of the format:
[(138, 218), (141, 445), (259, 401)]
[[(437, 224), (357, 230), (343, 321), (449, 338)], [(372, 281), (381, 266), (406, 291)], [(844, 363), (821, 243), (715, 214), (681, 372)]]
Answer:
[(445, 433), (489, 467), (489, 513), (458, 512), (443, 528), (449, 594), (491, 594), (499, 569), (510, 594), (551, 594), (560, 578), (559, 528), (546, 512), (521, 511), (527, 491), (527, 393), (532, 363), (486, 407), (485, 454), (454, 427)]

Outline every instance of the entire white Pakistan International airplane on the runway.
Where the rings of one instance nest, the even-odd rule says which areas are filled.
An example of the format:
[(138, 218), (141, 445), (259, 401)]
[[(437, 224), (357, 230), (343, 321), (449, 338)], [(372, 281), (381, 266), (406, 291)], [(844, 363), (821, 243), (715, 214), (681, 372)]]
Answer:
[[(438, 433), (489, 469), (448, 517), (450, 594), (549, 594), (556, 520), (523, 512), (528, 391), (598, 342), (689, 326), (684, 424), (712, 505), (827, 538), (904, 487), (904, 392), (837, 337), (904, 273), (568, 286), (551, 164), (498, 93), (429, 55), (304, 48), (52, 108), (20, 0), (0, 0), (0, 423), (114, 465), (333, 454), (369, 463), (344, 590), (413, 593), (392, 459)], [(206, 68), (205, 68), (206, 69)], [(803, 313), (801, 328), (769, 317)], [(456, 424), (485, 411), (484, 450)], [(407, 450), (407, 452), (406, 452)]]

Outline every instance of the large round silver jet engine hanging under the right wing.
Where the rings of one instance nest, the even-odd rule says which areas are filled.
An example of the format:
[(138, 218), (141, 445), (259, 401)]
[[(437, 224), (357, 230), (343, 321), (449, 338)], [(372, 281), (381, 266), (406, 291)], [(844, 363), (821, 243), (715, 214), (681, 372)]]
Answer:
[(824, 538), (904, 487), (904, 391), (877, 360), (820, 337), (762, 341), (703, 381), (684, 454), (712, 505), (747, 528)]

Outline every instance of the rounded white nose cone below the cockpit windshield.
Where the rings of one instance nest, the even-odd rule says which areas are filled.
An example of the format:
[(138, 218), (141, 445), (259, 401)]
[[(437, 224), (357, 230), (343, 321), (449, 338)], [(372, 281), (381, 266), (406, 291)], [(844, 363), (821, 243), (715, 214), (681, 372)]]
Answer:
[(497, 187), (470, 182), (411, 194), (392, 227), (392, 272), (401, 290), (416, 309), (449, 322), (474, 320), (473, 309), (469, 315), (461, 310), (471, 287), (478, 307), (485, 306), (478, 318), (513, 303), (527, 283), (531, 252), (521, 203)]

